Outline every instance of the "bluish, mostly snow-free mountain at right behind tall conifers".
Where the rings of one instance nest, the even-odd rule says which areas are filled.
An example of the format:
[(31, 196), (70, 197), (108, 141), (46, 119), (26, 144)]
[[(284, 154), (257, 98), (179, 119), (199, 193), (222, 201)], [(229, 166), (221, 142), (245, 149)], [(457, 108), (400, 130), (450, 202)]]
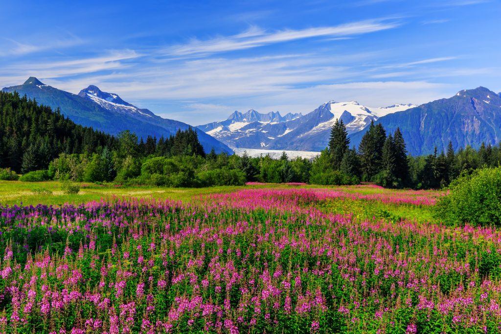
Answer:
[[(462, 90), (448, 99), (386, 115), (377, 123), (387, 132), (400, 128), (412, 155), (431, 154), (435, 146), (440, 152), (449, 141), (455, 149), (476, 149), (482, 142), (495, 145), (501, 140), (501, 93), (485, 87)], [(358, 147), (364, 133), (350, 135), (351, 145)]]

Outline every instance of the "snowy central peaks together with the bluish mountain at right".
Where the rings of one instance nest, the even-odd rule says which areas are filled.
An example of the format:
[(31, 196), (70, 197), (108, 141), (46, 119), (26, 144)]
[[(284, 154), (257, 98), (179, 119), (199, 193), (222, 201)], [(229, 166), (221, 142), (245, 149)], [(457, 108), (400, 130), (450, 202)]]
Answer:
[[(260, 121), (250, 110), (243, 115), (254, 119), (235, 119), (234, 112), (222, 122), (198, 126), (231, 148), (320, 151), (327, 147), (336, 119), (346, 125), (350, 146), (358, 147), (371, 122), (381, 123), (387, 133), (400, 128), (408, 153), (424, 155), (445, 150), (449, 141), (457, 150), (467, 145), (477, 149), (482, 142), (501, 142), (501, 93), (484, 87), (462, 90), (444, 98), (415, 106), (397, 104), (372, 108), (355, 101), (330, 101), (312, 112), (288, 114), (281, 121)], [(277, 113), (275, 113), (277, 114)], [(292, 119), (288, 119), (292, 118)]]

